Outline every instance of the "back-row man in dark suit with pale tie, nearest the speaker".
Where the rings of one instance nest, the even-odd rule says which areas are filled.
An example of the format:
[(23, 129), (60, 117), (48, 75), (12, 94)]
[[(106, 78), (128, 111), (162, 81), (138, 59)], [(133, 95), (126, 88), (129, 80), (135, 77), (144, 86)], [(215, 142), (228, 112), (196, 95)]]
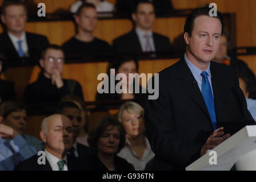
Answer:
[(151, 27), (155, 20), (153, 3), (139, 1), (135, 13), (134, 30), (113, 41), (114, 51), (117, 53), (168, 52), (171, 50), (169, 38), (154, 33)]

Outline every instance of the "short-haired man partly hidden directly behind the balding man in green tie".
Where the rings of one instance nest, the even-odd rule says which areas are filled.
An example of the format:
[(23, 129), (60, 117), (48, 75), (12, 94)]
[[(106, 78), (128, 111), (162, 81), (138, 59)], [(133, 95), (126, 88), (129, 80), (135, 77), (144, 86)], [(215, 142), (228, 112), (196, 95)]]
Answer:
[(82, 113), (81, 109), (73, 102), (61, 102), (55, 114), (63, 114), (68, 117), (72, 123), (73, 129), (73, 147), (69, 150), (69, 154), (80, 159), (87, 159), (92, 154), (90, 147), (84, 146), (76, 141), (82, 130)]

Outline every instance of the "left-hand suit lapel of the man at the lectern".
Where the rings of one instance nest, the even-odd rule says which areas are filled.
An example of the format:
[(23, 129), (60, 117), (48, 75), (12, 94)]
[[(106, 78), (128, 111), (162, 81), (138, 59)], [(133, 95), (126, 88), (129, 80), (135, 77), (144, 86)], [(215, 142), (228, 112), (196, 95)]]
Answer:
[(197, 105), (203, 110), (203, 112), (211, 121), (205, 100), (203, 100), (202, 93), (198, 88), (198, 84), (195, 82), (195, 78), (187, 66), (184, 58), (179, 61), (177, 77), (179, 80), (181, 80), (180, 83), (186, 92), (191, 96), (191, 98), (197, 103)]

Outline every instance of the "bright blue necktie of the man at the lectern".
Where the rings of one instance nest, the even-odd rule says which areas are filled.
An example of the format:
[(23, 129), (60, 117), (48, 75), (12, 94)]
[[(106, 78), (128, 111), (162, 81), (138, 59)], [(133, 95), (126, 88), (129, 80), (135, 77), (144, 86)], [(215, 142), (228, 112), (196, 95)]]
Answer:
[(209, 83), (209, 80), (207, 78), (207, 73), (202, 72), (201, 76), (203, 77), (202, 79), (202, 95), (203, 99), (205, 100), (205, 104), (207, 106), (207, 109), (210, 114), (211, 118), (211, 123), (213, 123), (213, 130), (217, 129), (216, 125), (216, 115), (215, 115), (215, 107), (214, 107), (214, 100), (213, 100), (213, 93), (211, 92), (211, 86)]

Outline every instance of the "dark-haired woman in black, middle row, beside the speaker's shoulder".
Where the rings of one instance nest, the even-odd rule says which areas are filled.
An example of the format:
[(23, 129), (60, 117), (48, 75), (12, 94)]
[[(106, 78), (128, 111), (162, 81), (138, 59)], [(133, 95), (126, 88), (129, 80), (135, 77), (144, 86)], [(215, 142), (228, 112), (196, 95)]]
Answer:
[[(123, 92), (121, 94), (115, 92), (110, 93), (110, 84), (109, 84), (109, 93), (97, 93), (96, 100), (97, 101), (110, 101), (110, 100), (134, 100), (139, 104), (143, 105), (144, 103), (144, 95), (146, 93), (146, 89), (139, 85), (138, 81), (133, 79), (129, 79), (129, 73), (135, 74), (138, 73), (138, 61), (133, 56), (122, 55), (118, 56), (113, 63), (111, 63), (110, 68), (115, 70), (115, 73), (109, 72), (109, 75), (114, 74), (116, 76), (118, 73), (124, 73), (127, 77), (127, 80), (122, 80), (123, 86), (126, 88), (122, 88)], [(110, 79), (109, 79), (110, 82)], [(118, 84), (119, 81), (115, 82), (115, 85)], [(125, 84), (126, 83), (126, 84)], [(135, 84), (139, 85), (139, 93), (135, 93)], [(131, 89), (131, 85), (133, 86), (133, 90)], [(124, 93), (126, 91), (126, 93)], [(129, 91), (132, 93), (129, 93)]]

